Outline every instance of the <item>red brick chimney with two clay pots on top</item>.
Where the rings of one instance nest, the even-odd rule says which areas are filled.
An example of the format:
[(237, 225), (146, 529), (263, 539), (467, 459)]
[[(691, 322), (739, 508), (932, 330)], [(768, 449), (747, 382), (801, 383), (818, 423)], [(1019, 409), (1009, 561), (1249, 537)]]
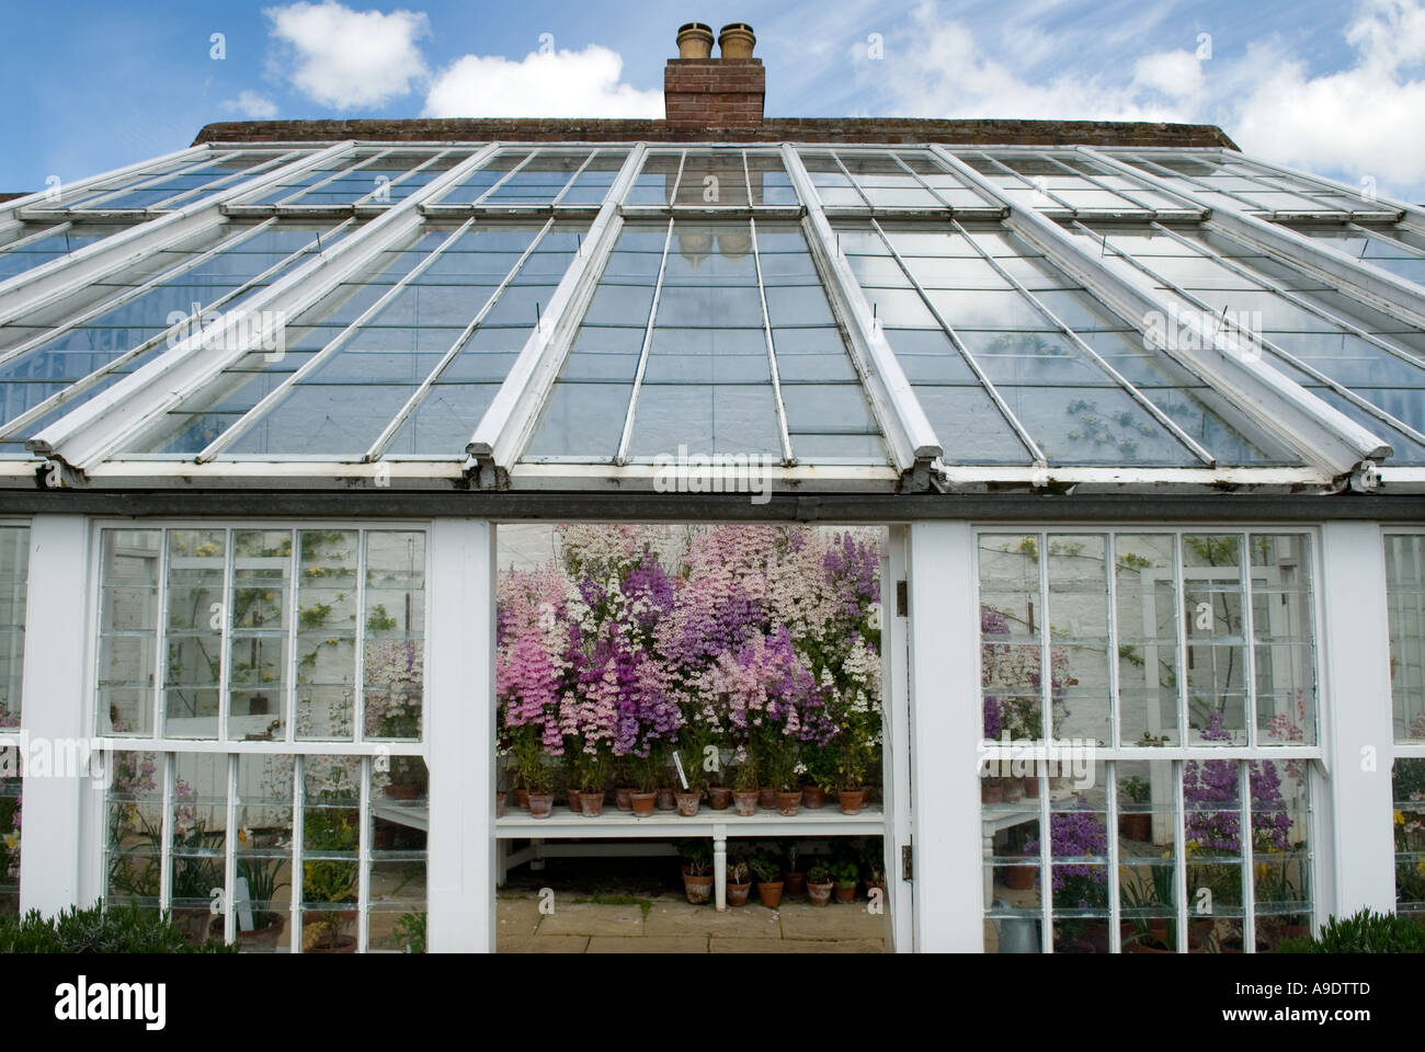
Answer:
[(762, 124), (767, 70), (752, 57), (752, 27), (734, 21), (718, 34), (721, 57), (712, 58), (712, 27), (690, 21), (678, 29), (678, 57), (663, 70), (663, 108), (675, 128), (757, 128)]

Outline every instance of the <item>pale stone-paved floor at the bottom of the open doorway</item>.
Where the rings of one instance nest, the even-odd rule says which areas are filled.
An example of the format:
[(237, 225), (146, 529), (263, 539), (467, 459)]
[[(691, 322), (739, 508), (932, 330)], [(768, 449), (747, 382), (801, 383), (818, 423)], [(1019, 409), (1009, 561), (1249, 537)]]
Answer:
[(768, 909), (755, 894), (720, 914), (671, 895), (591, 899), (564, 891), (540, 899), (514, 891), (502, 892), (496, 915), (502, 954), (881, 954), (888, 924), (864, 898)]

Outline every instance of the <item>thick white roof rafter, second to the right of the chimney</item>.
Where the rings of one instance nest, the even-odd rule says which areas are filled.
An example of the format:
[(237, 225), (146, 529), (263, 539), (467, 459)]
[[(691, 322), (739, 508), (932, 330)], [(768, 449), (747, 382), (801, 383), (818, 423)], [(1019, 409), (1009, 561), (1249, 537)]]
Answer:
[[(1170, 316), (1168, 304), (1163, 296), (1150, 294), (1123, 275), (1104, 268), (1052, 220), (995, 194), (989, 182), (949, 151), (936, 145), (931, 150), (962, 178), (980, 187), (995, 200), (1003, 201), (1009, 210), (1006, 220), (1009, 228), (1039, 248), (1050, 262), (1077, 279), (1116, 314), (1137, 319), (1143, 331), (1149, 328), (1149, 318)], [(1220, 395), (1233, 401), (1258, 426), (1298, 450), (1308, 463), (1344, 475), (1362, 460), (1378, 460), (1389, 452), (1389, 443), (1292, 383), (1270, 365), (1257, 361), (1257, 356), (1243, 354), (1235, 341), (1228, 341), (1220, 332), (1206, 331), (1196, 318), (1188, 318), (1183, 324), (1197, 336), (1194, 342), (1201, 349), (1177, 348), (1173, 351), (1173, 358), (1207, 381)]]

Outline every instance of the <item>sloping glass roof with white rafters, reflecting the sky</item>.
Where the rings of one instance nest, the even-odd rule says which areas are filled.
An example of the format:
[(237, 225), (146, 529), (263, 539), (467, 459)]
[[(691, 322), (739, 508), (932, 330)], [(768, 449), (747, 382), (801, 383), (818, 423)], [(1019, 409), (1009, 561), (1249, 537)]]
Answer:
[[(1332, 287), (1218, 212), (1422, 298)], [(1308, 413), (1425, 465), (1418, 230), (1221, 150), (198, 148), (0, 205), (0, 456), (87, 435), (103, 459), (219, 466), (499, 448), (570, 478), (683, 450), (845, 479), (1271, 470), (1318, 462)], [(83, 281), (44, 267), (67, 259)], [(1265, 368), (1226, 382), (1123, 288)], [(244, 311), (237, 345), (202, 338)], [(1278, 405), (1268, 373), (1320, 401)]]

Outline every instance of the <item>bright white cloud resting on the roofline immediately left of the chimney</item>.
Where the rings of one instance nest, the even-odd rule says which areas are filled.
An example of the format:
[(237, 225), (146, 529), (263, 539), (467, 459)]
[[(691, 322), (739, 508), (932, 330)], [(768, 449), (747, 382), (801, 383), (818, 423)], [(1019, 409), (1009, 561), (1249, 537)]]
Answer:
[(426, 117), (663, 117), (663, 91), (620, 83), (623, 58), (590, 44), (520, 61), (467, 54), (426, 96)]

